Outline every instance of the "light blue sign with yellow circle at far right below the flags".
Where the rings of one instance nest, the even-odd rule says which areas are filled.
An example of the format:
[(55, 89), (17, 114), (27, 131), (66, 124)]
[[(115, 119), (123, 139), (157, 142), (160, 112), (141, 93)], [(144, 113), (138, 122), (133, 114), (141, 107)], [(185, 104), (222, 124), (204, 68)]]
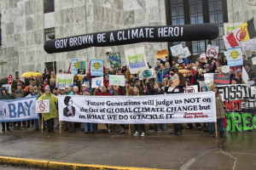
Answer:
[(228, 48), (227, 55), (228, 65), (230, 67), (243, 65), (241, 47)]

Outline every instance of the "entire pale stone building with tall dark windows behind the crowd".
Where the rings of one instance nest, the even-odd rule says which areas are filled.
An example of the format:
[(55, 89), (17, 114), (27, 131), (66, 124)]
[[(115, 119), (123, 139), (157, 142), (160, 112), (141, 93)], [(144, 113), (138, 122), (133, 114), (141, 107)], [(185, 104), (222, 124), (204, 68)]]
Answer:
[[(0, 78), (26, 71), (67, 71), (71, 59), (106, 59), (105, 48), (47, 54), (44, 42), (49, 38), (70, 37), (97, 31), (111, 31), (137, 26), (218, 24), (220, 37), (212, 44), (220, 46), (224, 22), (246, 22), (255, 16), (253, 0), (1, 0), (2, 46)], [(177, 42), (143, 42), (111, 47), (120, 52), (125, 64), (125, 48), (144, 46), (147, 60), (155, 65), (157, 50)], [(193, 56), (205, 52), (207, 41), (183, 42)], [(247, 52), (247, 55), (249, 53)]]

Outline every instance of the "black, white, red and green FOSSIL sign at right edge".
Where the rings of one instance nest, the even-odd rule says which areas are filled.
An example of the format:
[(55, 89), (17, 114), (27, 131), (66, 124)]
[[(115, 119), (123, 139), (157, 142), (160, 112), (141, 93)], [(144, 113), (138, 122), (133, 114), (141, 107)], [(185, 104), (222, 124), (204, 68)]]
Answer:
[(242, 84), (218, 86), (225, 106), (226, 131), (242, 132), (256, 129), (256, 88)]

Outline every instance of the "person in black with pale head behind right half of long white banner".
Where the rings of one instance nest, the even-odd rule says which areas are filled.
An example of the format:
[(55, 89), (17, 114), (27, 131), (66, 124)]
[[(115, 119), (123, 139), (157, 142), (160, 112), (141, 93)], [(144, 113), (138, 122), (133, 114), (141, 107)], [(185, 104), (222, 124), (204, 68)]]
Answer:
[[(183, 94), (184, 89), (186, 87), (185, 77), (183, 77), (183, 73), (177, 72), (172, 77), (171, 80), (168, 82), (167, 87), (165, 89), (166, 94)], [(175, 123), (173, 124), (174, 132), (177, 136), (183, 134), (183, 124), (182, 123)]]

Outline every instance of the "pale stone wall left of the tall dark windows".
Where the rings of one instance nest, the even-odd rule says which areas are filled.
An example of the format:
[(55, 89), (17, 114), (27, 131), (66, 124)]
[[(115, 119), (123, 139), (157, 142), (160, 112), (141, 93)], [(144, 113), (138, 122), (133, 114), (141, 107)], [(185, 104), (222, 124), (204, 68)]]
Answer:
[[(55, 38), (97, 31), (111, 31), (136, 26), (166, 25), (165, 0), (55, 0), (55, 12), (44, 14), (44, 0), (1, 0), (3, 45), (0, 54), (0, 78), (10, 73), (44, 71), (44, 63), (57, 63), (57, 70), (67, 71), (70, 59), (106, 59), (105, 48), (47, 54), (44, 29), (55, 27)], [(125, 48), (145, 46), (150, 65), (156, 50), (166, 42), (140, 43), (111, 47), (120, 52), (125, 64)]]

